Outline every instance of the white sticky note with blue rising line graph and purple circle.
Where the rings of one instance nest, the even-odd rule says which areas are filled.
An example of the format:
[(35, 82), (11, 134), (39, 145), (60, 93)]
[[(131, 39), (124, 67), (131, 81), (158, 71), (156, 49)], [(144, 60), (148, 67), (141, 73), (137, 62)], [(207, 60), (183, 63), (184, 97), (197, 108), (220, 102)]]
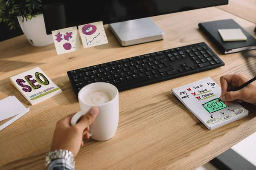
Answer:
[(102, 21), (81, 25), (78, 29), (84, 48), (108, 43)]

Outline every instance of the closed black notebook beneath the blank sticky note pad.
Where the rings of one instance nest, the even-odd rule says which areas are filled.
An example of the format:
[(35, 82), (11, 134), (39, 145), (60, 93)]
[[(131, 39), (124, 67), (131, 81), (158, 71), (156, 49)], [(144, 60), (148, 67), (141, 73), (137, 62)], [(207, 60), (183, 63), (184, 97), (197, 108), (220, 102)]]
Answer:
[[(204, 32), (204, 34), (206, 34), (212, 40), (212, 42), (219, 48), (219, 50), (223, 54), (235, 53), (246, 50), (250, 46), (256, 46), (256, 39), (232, 19), (199, 23), (198, 26)], [(218, 32), (218, 29), (234, 28), (240, 28), (244, 35), (247, 37), (247, 40), (224, 42), (221, 38), (221, 35)], [(256, 47), (250, 49), (255, 48)]]

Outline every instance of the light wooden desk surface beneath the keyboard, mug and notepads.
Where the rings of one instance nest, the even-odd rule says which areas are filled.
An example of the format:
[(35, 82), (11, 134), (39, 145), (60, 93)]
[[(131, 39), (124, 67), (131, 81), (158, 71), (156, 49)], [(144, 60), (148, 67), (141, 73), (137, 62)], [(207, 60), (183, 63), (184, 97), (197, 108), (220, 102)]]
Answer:
[(221, 55), (198, 29), (200, 22), (233, 18), (256, 37), (255, 24), (215, 7), (152, 18), (165, 31), (164, 40), (130, 47), (121, 47), (107, 26), (108, 44), (59, 56), (53, 44), (33, 47), (24, 36), (0, 42), (0, 91), (15, 95), (29, 105), (9, 77), (37, 66), (63, 91), (31, 106), (29, 113), (0, 132), (0, 169), (43, 169), (55, 123), (79, 111), (67, 71), (202, 41), (226, 65), (119, 93), (120, 119), (116, 135), (105, 142), (84, 141), (76, 157), (76, 169), (195, 169), (256, 132), (256, 112), (251, 105), (244, 105), (249, 116), (208, 130), (171, 93), (172, 88), (206, 77), (212, 77), (219, 84), (219, 77), (224, 74), (256, 76), (255, 59), (246, 61), (241, 53)]

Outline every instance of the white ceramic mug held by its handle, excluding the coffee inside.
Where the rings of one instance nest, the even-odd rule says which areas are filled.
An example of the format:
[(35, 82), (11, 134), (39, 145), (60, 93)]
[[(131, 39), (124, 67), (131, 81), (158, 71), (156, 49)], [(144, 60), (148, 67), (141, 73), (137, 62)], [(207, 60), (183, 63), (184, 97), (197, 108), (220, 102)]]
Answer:
[[(111, 95), (111, 100), (103, 104), (88, 104), (85, 97), (93, 91), (106, 91)], [(90, 136), (97, 141), (111, 139), (117, 129), (119, 121), (119, 96), (116, 86), (106, 82), (96, 82), (84, 86), (78, 94), (81, 111), (77, 112), (71, 119), (71, 125), (76, 125), (79, 118), (87, 113), (90, 108), (97, 107), (99, 113), (90, 125)]]

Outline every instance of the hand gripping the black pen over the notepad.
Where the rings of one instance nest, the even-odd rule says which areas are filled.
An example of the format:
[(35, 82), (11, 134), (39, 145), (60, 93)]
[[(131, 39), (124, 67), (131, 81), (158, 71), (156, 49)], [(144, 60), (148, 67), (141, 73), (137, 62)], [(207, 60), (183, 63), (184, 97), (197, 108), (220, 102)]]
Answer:
[(251, 82), (244, 88), (235, 91), (239, 86), (250, 79), (242, 74), (224, 75), (220, 78), (221, 96), (220, 99), (229, 106), (231, 101), (248, 102), (256, 105), (256, 82)]

